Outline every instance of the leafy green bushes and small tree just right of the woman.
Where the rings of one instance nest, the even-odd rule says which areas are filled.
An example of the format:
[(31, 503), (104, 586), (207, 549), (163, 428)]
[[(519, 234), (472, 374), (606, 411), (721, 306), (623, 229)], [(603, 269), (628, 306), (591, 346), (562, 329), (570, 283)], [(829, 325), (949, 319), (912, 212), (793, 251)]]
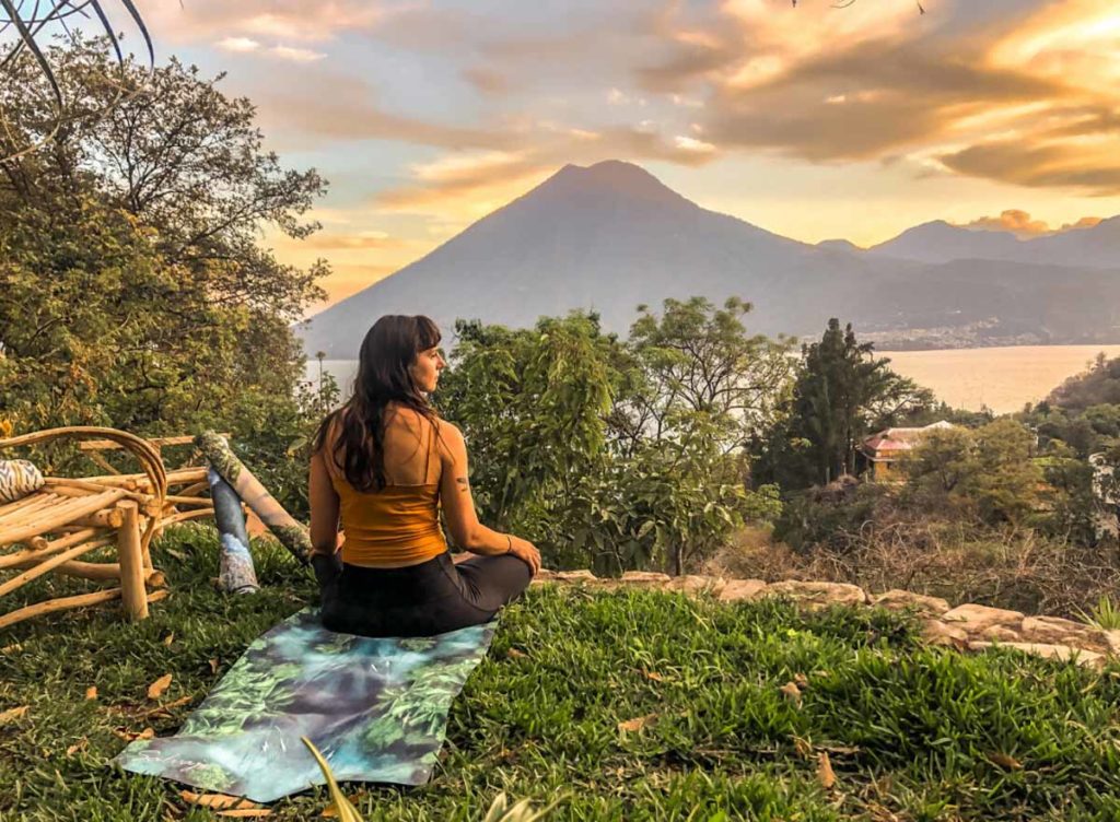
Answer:
[(483, 520), (559, 567), (681, 573), (776, 515), (776, 489), (747, 487), (744, 445), (785, 384), (786, 344), (748, 336), (748, 310), (666, 300), (627, 342), (580, 312), (532, 330), (460, 321), (436, 399), (468, 441)]

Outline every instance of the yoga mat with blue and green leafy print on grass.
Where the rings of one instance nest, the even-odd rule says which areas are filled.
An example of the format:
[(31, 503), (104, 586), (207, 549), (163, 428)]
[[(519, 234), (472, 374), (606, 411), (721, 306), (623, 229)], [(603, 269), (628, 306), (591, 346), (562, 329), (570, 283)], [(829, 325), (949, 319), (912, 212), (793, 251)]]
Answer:
[(486, 655), (494, 623), (431, 637), (334, 634), (308, 608), (249, 646), (174, 737), (140, 739), (125, 770), (272, 802), (339, 781), (422, 785), (451, 701)]

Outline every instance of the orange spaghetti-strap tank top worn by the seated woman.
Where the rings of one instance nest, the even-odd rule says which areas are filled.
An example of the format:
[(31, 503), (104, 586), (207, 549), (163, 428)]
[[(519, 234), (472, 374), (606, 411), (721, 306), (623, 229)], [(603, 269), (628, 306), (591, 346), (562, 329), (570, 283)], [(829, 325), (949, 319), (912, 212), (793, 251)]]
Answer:
[[(428, 439), (424, 478), (431, 474), (432, 442)], [(382, 491), (356, 491), (340, 470), (330, 471), (338, 494), (339, 519), (346, 541), (343, 562), (354, 566), (403, 567), (427, 562), (447, 551), (439, 526), (439, 483), (386, 485)]]

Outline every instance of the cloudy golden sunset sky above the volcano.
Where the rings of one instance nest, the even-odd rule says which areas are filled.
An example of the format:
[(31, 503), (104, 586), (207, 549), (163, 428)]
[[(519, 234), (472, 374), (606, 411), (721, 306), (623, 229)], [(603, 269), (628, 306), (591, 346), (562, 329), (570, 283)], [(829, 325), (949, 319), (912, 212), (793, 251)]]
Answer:
[(569, 162), (636, 162), (811, 243), (1120, 214), (1114, 0), (138, 4), (159, 62), (224, 73), (283, 164), (329, 181), (323, 231), (265, 235), (330, 262), (327, 302)]

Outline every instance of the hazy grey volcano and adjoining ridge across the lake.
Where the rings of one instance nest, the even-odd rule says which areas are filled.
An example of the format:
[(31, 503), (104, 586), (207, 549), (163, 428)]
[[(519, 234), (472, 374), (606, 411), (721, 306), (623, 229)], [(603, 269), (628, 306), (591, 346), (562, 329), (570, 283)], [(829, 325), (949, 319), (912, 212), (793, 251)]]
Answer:
[[(940, 260), (931, 251), (936, 237), (953, 237), (961, 253), (974, 253), (964, 243), (972, 237), (956, 233), (964, 231), (928, 224), (870, 251), (844, 241), (809, 245), (702, 208), (628, 162), (564, 166), (300, 333), (307, 351), (337, 359), (354, 357), (383, 314), (426, 314), (449, 336), (460, 317), (528, 327), (542, 315), (587, 308), (606, 329), (625, 334), (637, 305), (703, 295), (754, 302), (749, 327), (767, 334), (815, 336), (829, 317), (840, 317), (904, 344), (917, 328), (926, 336), (954, 329), (949, 344), (961, 345), (969, 335), (989, 343), (1120, 340), (1120, 274), (1008, 265), (1002, 258)], [(1096, 228), (1076, 234), (1089, 231)], [(1108, 245), (1100, 236), (1083, 246), (1091, 254), (1077, 253), (1099, 259)], [(1005, 241), (978, 240), (989, 244), (987, 254), (1008, 253), (1014, 246)], [(1120, 269), (1120, 253), (1113, 260)]]

